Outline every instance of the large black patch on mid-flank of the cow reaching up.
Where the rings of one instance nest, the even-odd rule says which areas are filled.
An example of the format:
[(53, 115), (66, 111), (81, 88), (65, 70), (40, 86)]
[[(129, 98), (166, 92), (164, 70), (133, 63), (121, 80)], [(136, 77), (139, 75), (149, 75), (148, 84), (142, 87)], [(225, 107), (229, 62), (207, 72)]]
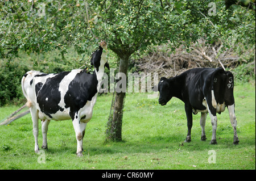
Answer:
[(64, 111), (64, 109), (58, 105), (60, 103), (59, 86), (61, 80), (69, 73), (70, 71), (63, 71), (55, 75), (55, 77), (47, 78), (46, 83), (44, 83), (43, 86), (41, 85), (42, 88), (40, 91), (36, 91), (38, 92), (36, 100), (39, 104), (40, 110), (50, 118), (52, 118), (51, 114), (56, 113), (59, 110)]

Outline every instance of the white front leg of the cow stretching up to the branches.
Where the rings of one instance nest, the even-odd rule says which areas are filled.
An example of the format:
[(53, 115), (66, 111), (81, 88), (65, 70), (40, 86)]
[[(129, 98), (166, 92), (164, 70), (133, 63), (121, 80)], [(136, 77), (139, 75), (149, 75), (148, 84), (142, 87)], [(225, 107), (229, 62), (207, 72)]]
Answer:
[(77, 156), (81, 157), (82, 156), (82, 140), (84, 138), (84, 133), (85, 133), (85, 128), (86, 128), (86, 123), (80, 122), (79, 119), (73, 120), (73, 127), (76, 132), (76, 140), (77, 140), (77, 150), (76, 154)]

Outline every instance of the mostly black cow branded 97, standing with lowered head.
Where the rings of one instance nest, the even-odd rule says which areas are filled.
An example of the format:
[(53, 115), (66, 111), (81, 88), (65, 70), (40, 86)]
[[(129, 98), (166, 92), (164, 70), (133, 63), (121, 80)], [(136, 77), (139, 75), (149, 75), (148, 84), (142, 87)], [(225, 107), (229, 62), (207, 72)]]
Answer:
[(230, 121), (234, 130), (233, 144), (238, 144), (237, 120), (234, 111), (234, 77), (230, 71), (222, 68), (195, 68), (173, 77), (162, 77), (158, 84), (160, 92), (159, 104), (162, 106), (173, 96), (185, 103), (187, 115), (188, 134), (185, 142), (191, 141), (192, 113), (201, 112), (200, 125), (202, 128), (201, 140), (205, 141), (205, 120), (209, 112), (212, 120), (212, 140), (210, 144), (217, 144), (216, 129), (217, 116), (228, 107)]

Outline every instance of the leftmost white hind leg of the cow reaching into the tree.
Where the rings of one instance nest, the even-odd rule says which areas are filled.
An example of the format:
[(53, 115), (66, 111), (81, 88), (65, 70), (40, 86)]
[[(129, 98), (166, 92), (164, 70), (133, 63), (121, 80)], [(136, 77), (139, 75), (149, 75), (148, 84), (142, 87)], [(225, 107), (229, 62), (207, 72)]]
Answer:
[(33, 134), (35, 138), (35, 153), (38, 153), (38, 110), (35, 107), (30, 107), (32, 122), (33, 122)]

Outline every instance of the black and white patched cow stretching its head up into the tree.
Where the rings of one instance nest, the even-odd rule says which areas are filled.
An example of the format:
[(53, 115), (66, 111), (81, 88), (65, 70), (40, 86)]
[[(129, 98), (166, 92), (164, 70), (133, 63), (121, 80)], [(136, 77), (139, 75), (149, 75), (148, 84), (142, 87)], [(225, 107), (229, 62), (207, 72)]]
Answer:
[(92, 54), (91, 64), (95, 70), (88, 73), (86, 69), (63, 71), (58, 74), (45, 74), (39, 71), (28, 71), (22, 78), (22, 91), (30, 107), (35, 152), (38, 146), (38, 119), (42, 121), (43, 146), (47, 149), (47, 131), (50, 120), (72, 119), (76, 132), (77, 151), (82, 155), (82, 139), (86, 124), (92, 118), (93, 106), (96, 103), (106, 60), (106, 42), (101, 41), (98, 49)]

